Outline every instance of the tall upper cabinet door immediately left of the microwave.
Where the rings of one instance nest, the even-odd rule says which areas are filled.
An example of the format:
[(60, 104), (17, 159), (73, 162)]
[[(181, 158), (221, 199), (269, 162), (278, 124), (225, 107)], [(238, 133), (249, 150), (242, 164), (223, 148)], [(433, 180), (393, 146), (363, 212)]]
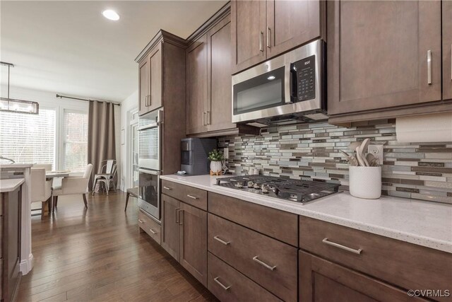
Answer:
[(208, 131), (235, 127), (232, 124), (231, 18), (227, 16), (208, 31)]

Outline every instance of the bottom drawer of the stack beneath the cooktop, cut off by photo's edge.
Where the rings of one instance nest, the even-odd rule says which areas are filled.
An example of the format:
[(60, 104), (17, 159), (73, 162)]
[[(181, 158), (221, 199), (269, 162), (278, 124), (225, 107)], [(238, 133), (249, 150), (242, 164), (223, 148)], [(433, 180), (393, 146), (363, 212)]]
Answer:
[(208, 290), (220, 301), (281, 301), (210, 252)]

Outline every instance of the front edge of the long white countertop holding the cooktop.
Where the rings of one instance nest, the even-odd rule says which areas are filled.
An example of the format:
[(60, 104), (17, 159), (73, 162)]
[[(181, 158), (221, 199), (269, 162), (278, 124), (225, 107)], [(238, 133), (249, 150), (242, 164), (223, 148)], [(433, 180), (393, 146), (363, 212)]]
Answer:
[(385, 228), (383, 226), (375, 226), (372, 224), (366, 224), (362, 223), (361, 221), (352, 221), (350, 219), (345, 219), (342, 217), (337, 216), (331, 216), (329, 214), (324, 214), (319, 211), (313, 211), (309, 209), (302, 209), (299, 207), (299, 204), (291, 204), (291, 202), (285, 202), (283, 200), (278, 200), (278, 202), (269, 202), (265, 199), (257, 199), (256, 197), (259, 197), (259, 195), (255, 195), (248, 192), (234, 192), (230, 190), (225, 190), (220, 187), (209, 187), (206, 185), (199, 185), (197, 183), (189, 182), (188, 180), (180, 180), (176, 179), (174, 177), (171, 177), (172, 175), (162, 175), (160, 178), (162, 180), (168, 180), (172, 182), (177, 182), (181, 185), (188, 185), (190, 187), (196, 187), (201, 190), (206, 190), (208, 192), (214, 192), (218, 194), (223, 194), (229, 197), (234, 197), (237, 199), (241, 199), (245, 202), (251, 202), (254, 204), (260, 204), (264, 207), (270, 207), (273, 209), (278, 209), (280, 211), (287, 211), (292, 214), (297, 214), (301, 216), (307, 216), (313, 219), (319, 219), (321, 221), (326, 221), (329, 223), (335, 223), (340, 226), (346, 226), (349, 228), (355, 228), (359, 231), (364, 231), (367, 233), (373, 233), (379, 236), (392, 238), (400, 241), (405, 241), (408, 243), (412, 243), (415, 245), (421, 245), (426, 248), (433, 248), (434, 250), (441, 250), (443, 252), (452, 253), (452, 243), (445, 241), (445, 240), (438, 240), (434, 238), (429, 238), (425, 236), (420, 236), (415, 233), (406, 233), (403, 231), (396, 231), (391, 228)]

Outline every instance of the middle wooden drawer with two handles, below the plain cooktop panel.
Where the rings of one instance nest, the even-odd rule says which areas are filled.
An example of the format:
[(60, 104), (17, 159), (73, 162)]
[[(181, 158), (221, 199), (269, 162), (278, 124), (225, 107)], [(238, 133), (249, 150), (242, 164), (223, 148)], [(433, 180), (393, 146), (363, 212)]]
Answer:
[(208, 214), (208, 250), (285, 301), (297, 301), (297, 248)]

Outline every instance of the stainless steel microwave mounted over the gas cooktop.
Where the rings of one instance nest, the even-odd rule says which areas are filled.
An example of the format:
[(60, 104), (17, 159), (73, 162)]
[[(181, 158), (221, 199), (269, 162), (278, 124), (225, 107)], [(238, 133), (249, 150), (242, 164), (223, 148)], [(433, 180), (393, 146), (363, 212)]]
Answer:
[(316, 40), (232, 76), (232, 122), (326, 120), (324, 52)]

